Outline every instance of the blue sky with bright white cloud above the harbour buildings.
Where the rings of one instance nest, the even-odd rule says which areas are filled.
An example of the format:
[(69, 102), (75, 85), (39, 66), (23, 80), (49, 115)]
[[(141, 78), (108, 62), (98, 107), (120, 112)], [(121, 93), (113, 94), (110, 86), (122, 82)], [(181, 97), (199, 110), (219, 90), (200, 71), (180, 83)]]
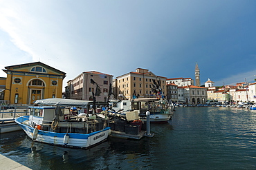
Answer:
[[(0, 0), (1, 70), (41, 61), (66, 72), (235, 85), (256, 78), (256, 1)], [(6, 76), (0, 71), (0, 76)]]

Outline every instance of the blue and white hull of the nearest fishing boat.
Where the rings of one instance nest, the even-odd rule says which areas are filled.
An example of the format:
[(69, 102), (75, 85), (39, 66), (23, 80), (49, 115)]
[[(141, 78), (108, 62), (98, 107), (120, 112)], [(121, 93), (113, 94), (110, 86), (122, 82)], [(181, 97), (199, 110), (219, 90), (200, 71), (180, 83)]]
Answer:
[[(28, 120), (28, 116), (19, 117), (15, 121), (21, 126), (28, 137), (33, 139), (35, 138), (35, 128), (22, 124), (25, 120)], [(65, 145), (64, 138), (66, 133), (38, 130), (35, 141), (65, 147), (89, 148), (106, 140), (110, 132), (110, 127), (106, 127), (100, 131), (92, 132), (91, 134), (68, 133), (69, 138), (67, 144), (65, 143)]]

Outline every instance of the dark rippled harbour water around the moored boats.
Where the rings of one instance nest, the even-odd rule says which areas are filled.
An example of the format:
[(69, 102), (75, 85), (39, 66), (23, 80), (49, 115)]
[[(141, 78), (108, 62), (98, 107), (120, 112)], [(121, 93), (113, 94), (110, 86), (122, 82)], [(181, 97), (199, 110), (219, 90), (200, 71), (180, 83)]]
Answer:
[(33, 142), (18, 131), (1, 134), (0, 153), (31, 169), (256, 169), (256, 111), (180, 107), (151, 130), (154, 138), (109, 138), (91, 149)]

